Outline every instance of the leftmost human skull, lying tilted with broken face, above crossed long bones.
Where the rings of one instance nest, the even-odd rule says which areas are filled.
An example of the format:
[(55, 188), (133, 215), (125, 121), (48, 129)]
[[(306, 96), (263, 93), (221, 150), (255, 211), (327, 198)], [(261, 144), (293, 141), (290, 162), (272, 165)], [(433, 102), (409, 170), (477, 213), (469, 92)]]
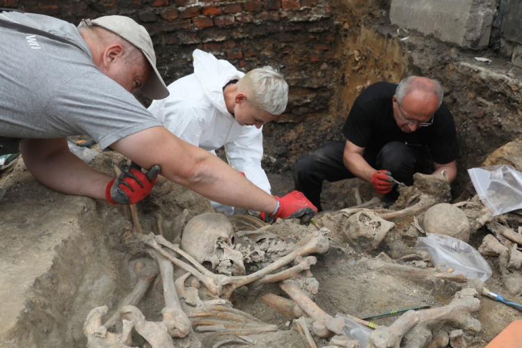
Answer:
[(246, 274), (243, 255), (234, 250), (234, 228), (223, 214), (207, 213), (193, 217), (183, 230), (181, 248), (200, 264), (210, 264), (221, 274)]

